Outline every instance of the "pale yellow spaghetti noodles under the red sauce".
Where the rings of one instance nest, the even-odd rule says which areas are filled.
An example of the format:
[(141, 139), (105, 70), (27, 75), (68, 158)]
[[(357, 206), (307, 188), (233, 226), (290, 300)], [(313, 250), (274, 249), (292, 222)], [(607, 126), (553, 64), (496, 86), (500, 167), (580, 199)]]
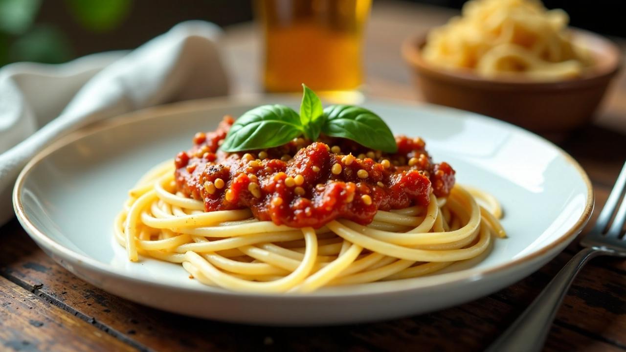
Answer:
[(141, 254), (181, 263), (203, 284), (233, 291), (311, 292), (423, 276), (480, 256), (492, 236), (505, 236), (495, 199), (459, 185), (447, 199), (431, 192), (426, 207), (378, 210), (367, 226), (337, 219), (319, 229), (259, 221), (249, 209), (205, 212), (177, 190), (171, 160), (129, 194), (115, 238), (131, 261)]

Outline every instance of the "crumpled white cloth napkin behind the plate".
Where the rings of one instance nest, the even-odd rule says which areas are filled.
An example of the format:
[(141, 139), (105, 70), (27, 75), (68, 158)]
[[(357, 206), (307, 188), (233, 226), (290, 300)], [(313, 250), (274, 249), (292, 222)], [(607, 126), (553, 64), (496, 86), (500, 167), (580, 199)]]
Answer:
[(0, 224), (13, 217), (11, 191), (18, 173), (57, 138), (147, 106), (226, 95), (220, 33), (214, 24), (188, 21), (131, 52), (1, 68)]

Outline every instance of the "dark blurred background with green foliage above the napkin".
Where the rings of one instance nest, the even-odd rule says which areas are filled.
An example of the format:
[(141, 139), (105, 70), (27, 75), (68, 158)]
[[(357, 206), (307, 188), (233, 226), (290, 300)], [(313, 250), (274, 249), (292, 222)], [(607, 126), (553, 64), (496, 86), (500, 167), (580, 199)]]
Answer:
[(252, 19), (250, 0), (0, 0), (0, 66), (136, 48), (188, 19)]

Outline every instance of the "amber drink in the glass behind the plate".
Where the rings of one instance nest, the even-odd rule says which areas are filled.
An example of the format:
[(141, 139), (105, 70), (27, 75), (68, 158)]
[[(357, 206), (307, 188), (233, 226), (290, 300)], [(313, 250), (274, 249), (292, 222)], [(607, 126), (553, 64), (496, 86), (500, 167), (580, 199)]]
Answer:
[(265, 90), (356, 89), (371, 0), (257, 0), (265, 37)]

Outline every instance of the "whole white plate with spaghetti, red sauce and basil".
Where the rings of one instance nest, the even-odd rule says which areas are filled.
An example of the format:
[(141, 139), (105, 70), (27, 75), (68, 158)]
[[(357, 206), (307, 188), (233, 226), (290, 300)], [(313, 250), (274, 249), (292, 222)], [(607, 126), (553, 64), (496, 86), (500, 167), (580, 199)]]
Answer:
[(29, 163), (14, 204), (44, 251), (106, 291), (310, 325), (505, 287), (572, 241), (593, 194), (521, 128), (438, 106), (324, 107), (304, 86), (302, 101), (178, 103), (74, 133)]

